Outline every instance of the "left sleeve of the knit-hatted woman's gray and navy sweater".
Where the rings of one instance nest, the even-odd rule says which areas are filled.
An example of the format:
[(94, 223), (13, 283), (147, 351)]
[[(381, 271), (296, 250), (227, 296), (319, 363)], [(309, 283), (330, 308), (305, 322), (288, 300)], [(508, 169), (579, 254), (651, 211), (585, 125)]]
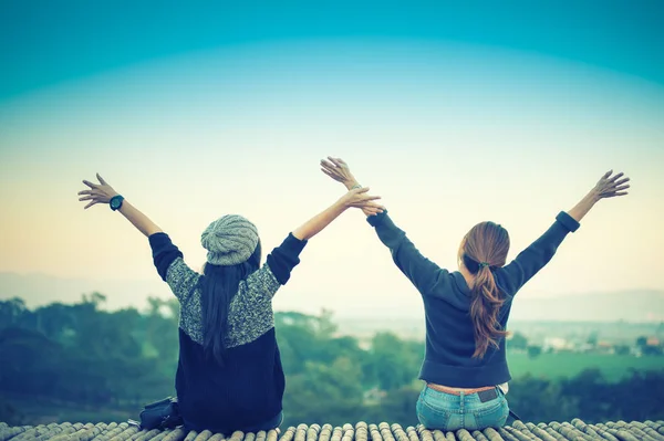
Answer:
[(183, 253), (173, 244), (166, 233), (155, 233), (149, 238), (153, 260), (162, 280), (168, 283), (170, 291), (183, 303), (194, 291), (200, 275), (183, 260)]

